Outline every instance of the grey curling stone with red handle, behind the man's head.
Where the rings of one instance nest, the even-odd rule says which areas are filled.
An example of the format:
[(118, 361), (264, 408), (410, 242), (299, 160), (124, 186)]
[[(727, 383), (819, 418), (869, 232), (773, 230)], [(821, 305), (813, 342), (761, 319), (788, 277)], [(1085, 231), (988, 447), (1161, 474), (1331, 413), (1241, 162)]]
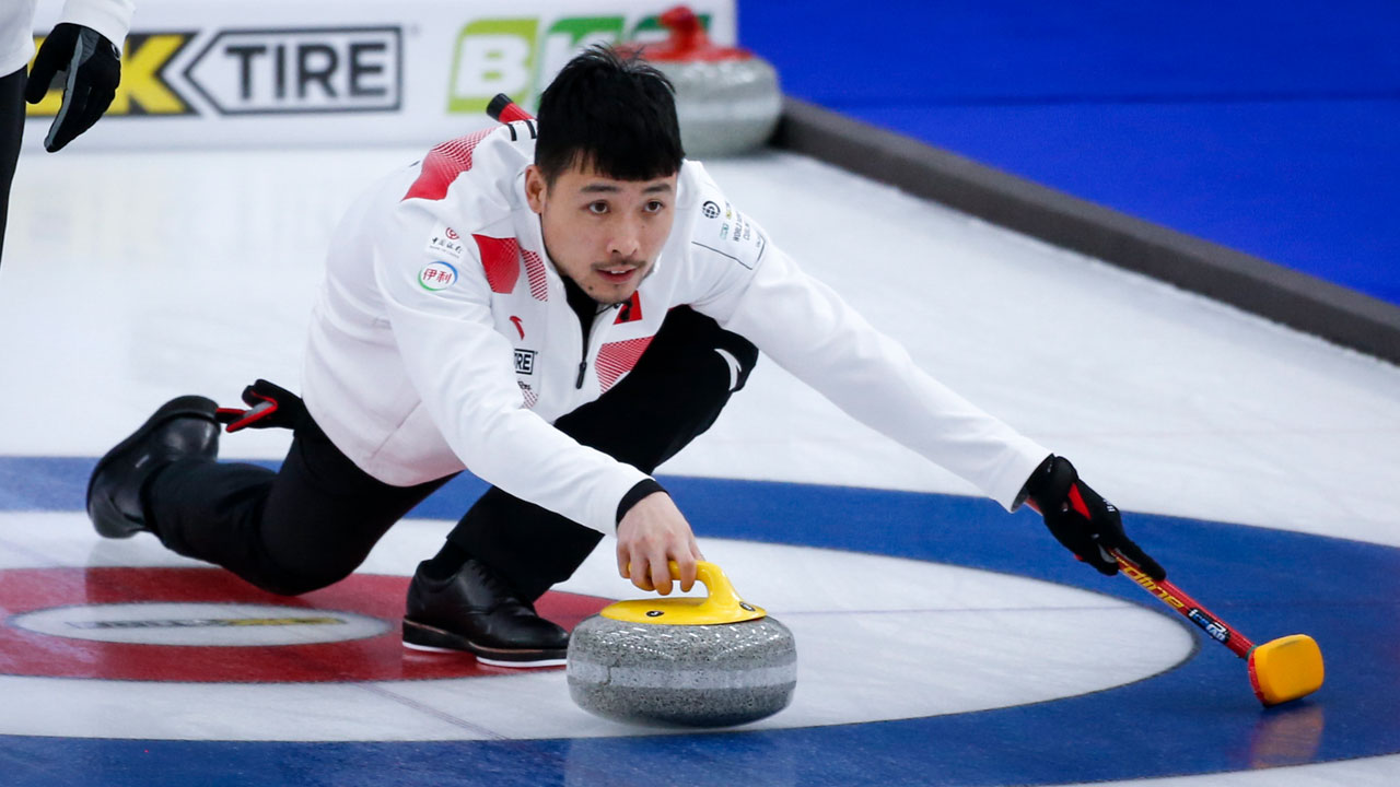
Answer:
[(689, 158), (734, 155), (762, 147), (783, 113), (778, 73), (746, 49), (717, 46), (685, 6), (661, 14), (669, 38), (626, 43), (641, 50), (676, 88), (680, 144)]

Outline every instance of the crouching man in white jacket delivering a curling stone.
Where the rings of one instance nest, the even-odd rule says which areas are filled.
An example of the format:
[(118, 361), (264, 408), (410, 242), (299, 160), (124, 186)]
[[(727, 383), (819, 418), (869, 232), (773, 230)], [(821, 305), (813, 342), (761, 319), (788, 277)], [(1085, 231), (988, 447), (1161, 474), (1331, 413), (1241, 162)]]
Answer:
[[(1008, 510), (1030, 500), (1103, 573), (1117, 511), (1063, 458), (920, 371), (808, 277), (683, 160), (665, 78), (591, 49), (539, 122), (435, 147), (335, 234), (302, 399), (266, 381), (248, 412), (175, 399), (97, 465), (88, 513), (283, 594), (349, 576), (414, 504), (470, 469), (493, 486), (424, 560), (405, 643), (491, 664), (557, 662), (532, 602), (605, 534), (617, 569), (668, 594), (701, 557), (652, 469), (718, 416), (762, 349), (864, 423)], [(277, 473), (216, 461), (218, 422), (290, 426)]]

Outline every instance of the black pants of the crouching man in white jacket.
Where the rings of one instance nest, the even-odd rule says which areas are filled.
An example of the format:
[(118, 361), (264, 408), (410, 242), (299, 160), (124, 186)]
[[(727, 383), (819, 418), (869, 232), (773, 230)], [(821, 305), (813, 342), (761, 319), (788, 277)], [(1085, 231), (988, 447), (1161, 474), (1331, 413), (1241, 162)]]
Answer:
[[(757, 360), (753, 344), (689, 308), (672, 309), (631, 374), (554, 426), (650, 473), (706, 431), (729, 401), (729, 364), (715, 349), (739, 360), (742, 385)], [(185, 459), (151, 479), (144, 501), (147, 522), (165, 546), (295, 595), (350, 576), (396, 521), (449, 478), (385, 485), (307, 423), (276, 473)], [(448, 535), (526, 599), (567, 580), (601, 538), (496, 487)]]

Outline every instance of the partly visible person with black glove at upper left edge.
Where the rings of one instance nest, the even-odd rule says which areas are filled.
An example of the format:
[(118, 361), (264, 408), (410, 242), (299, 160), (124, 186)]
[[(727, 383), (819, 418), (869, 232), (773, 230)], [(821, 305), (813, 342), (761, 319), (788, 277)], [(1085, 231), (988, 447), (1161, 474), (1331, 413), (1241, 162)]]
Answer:
[(59, 24), (43, 39), (34, 71), (25, 77), (34, 55), (35, 3), (0, 3), (0, 259), (10, 183), (24, 137), (25, 98), (38, 104), (53, 77), (66, 76), (63, 104), (43, 140), (49, 153), (62, 150), (112, 104), (122, 77), (122, 41), (132, 25), (132, 0), (67, 0)]

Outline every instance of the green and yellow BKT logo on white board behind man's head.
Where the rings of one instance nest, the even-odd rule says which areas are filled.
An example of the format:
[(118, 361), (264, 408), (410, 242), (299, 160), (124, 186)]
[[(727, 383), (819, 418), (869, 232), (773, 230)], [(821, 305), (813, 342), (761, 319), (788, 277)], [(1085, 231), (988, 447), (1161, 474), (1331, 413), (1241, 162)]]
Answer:
[[(708, 14), (701, 14), (700, 21), (710, 27)], [(475, 20), (456, 36), (447, 109), (479, 115), (498, 92), (533, 108), (539, 91), (580, 50), (595, 43), (662, 38), (657, 17), (644, 17), (630, 31), (624, 17), (566, 17), (549, 27), (538, 18)]]

